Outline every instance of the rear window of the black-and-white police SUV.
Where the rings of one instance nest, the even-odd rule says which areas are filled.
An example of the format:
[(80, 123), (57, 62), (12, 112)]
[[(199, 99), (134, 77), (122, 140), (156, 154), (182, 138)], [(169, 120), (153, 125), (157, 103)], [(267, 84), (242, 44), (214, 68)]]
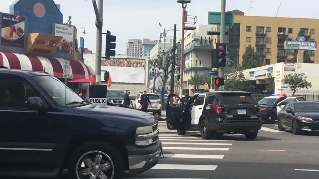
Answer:
[(224, 93), (221, 94), (222, 104), (256, 104), (256, 99), (250, 93)]

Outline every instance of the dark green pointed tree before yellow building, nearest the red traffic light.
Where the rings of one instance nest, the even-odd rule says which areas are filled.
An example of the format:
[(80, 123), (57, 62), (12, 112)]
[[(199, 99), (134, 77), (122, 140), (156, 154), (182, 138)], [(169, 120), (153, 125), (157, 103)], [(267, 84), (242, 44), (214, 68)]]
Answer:
[(243, 68), (251, 69), (256, 67), (261, 67), (263, 65), (263, 60), (256, 54), (254, 48), (249, 45), (246, 52), (243, 55)]

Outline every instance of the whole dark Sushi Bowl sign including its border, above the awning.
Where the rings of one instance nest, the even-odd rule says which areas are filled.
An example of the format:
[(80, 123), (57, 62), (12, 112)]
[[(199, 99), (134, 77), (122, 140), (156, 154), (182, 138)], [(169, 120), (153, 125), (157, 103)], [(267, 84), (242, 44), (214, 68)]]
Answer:
[(1, 43), (3, 51), (23, 53), (27, 42), (27, 21), (25, 17), (0, 13)]

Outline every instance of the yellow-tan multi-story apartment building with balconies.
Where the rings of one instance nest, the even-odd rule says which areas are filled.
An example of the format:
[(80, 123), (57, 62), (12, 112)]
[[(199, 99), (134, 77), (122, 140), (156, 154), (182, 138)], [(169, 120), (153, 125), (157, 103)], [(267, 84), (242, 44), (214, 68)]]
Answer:
[[(228, 59), (242, 63), (246, 48), (251, 45), (265, 65), (287, 62), (293, 57), (293, 50), (284, 49), (286, 40), (296, 40), (298, 33), (303, 32), (307, 41), (319, 38), (319, 19), (260, 17), (235, 15), (234, 25), (227, 26), (226, 36)], [(214, 25), (213, 31), (219, 31)], [(219, 37), (214, 36), (214, 44)], [(314, 63), (319, 63), (319, 49), (308, 51)]]

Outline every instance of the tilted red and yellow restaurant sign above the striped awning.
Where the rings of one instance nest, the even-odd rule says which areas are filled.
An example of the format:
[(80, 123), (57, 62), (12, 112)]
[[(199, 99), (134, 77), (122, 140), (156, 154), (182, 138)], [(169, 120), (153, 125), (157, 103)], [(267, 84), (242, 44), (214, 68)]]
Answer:
[(31, 33), (28, 35), (27, 54), (38, 56), (52, 56), (63, 37)]

